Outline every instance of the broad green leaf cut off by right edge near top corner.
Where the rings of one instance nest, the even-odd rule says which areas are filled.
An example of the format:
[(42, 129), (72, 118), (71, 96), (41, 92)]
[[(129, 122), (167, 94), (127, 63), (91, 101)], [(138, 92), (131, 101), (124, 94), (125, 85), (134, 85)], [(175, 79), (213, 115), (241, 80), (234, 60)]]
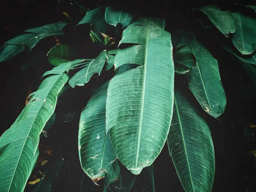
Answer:
[(233, 44), (241, 54), (252, 54), (256, 49), (256, 19), (239, 12), (232, 14), (238, 26), (232, 35)]

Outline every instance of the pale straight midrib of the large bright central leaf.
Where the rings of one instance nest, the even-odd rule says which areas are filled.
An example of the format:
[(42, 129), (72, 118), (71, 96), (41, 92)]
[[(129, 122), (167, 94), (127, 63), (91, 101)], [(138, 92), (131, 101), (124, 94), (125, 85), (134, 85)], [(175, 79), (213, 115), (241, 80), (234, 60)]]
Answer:
[(138, 168), (138, 160), (139, 160), (139, 151), (140, 151), (140, 137), (142, 131), (142, 120), (143, 120), (143, 108), (144, 108), (144, 98), (145, 98), (145, 77), (146, 77), (146, 61), (148, 56), (148, 30), (149, 30), (149, 17), (148, 17), (148, 26), (147, 26), (147, 35), (146, 35), (146, 43), (145, 43), (145, 60), (144, 60), (144, 73), (143, 73), (143, 91), (141, 98), (141, 111), (140, 111), (140, 126), (139, 126), (139, 134), (138, 134), (138, 145), (137, 145), (137, 153), (135, 160), (135, 169)]

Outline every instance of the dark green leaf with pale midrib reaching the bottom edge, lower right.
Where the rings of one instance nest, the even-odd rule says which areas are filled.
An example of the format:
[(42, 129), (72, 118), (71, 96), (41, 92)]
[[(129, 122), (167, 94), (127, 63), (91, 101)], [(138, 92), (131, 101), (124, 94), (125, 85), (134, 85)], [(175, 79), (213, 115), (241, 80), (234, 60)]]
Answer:
[(215, 159), (209, 127), (180, 92), (174, 98), (167, 144), (175, 169), (186, 192), (211, 192)]

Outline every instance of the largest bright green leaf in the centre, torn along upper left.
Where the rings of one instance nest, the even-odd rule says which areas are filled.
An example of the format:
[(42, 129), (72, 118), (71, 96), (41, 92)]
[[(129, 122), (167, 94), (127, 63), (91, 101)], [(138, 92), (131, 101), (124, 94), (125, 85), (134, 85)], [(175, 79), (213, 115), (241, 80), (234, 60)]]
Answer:
[(118, 159), (134, 174), (154, 162), (172, 119), (172, 44), (163, 26), (164, 20), (140, 17), (123, 31), (120, 44), (137, 45), (117, 52), (115, 67), (141, 66), (116, 75), (108, 87), (106, 132)]

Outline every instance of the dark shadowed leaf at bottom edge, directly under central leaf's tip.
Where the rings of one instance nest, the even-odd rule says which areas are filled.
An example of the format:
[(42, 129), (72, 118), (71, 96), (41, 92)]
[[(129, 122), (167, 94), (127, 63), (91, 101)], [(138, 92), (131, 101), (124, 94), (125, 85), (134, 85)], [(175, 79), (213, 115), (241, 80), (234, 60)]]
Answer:
[(133, 192), (154, 192), (154, 170), (153, 166), (143, 169), (140, 175), (136, 177), (134, 185), (131, 188)]

